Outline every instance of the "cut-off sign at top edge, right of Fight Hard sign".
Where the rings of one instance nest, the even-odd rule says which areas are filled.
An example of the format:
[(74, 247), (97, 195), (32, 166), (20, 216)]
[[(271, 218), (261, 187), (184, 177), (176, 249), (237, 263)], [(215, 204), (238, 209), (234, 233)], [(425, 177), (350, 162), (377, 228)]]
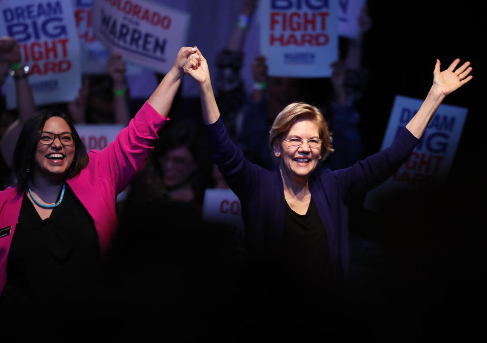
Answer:
[(360, 35), (359, 16), (365, 0), (338, 0), (338, 34), (358, 39)]

